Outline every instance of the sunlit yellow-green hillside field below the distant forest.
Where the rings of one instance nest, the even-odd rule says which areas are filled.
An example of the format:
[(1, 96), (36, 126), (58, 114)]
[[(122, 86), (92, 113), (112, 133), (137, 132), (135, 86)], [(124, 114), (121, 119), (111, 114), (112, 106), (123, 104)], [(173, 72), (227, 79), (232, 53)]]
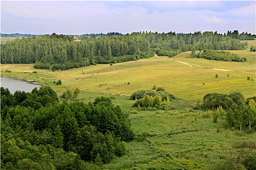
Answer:
[[(229, 94), (239, 91), (246, 98), (255, 96), (255, 52), (249, 52), (248, 50), (232, 52), (237, 53), (240, 57), (246, 56), (247, 61), (237, 63), (192, 59), (186, 58), (190, 52), (184, 52), (172, 58), (172, 60), (167, 57), (153, 57), (118, 63), (113, 66), (106, 64), (55, 72), (35, 69), (32, 64), (3, 64), (1, 65), (2, 71), (9, 69), (12, 72), (1, 72), (1, 75), (36, 80), (39, 83), (51, 85), (59, 94), (66, 88), (79, 87), (81, 90), (89, 92), (130, 95), (138, 89), (151, 89), (156, 85), (186, 101), (202, 100), (205, 94), (212, 92)], [(190, 67), (175, 60), (201, 67), (194, 65)], [(37, 70), (38, 73), (26, 74), (23, 73), (24, 70)], [(218, 78), (215, 77), (216, 74), (218, 74)], [(247, 77), (250, 77), (250, 80), (247, 80)], [(63, 85), (57, 86), (52, 83), (59, 79)]]

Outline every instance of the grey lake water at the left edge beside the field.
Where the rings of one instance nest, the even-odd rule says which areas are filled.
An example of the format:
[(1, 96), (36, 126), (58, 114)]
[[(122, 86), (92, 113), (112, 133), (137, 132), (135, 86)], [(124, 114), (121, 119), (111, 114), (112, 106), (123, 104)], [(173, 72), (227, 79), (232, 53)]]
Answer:
[(39, 89), (42, 86), (42, 85), (34, 85), (30, 82), (26, 82), (19, 79), (13, 79), (13, 78), (1, 77), (0, 79), (1, 79), (1, 87), (8, 88), (12, 94), (14, 94), (16, 90), (31, 92), (35, 87)]

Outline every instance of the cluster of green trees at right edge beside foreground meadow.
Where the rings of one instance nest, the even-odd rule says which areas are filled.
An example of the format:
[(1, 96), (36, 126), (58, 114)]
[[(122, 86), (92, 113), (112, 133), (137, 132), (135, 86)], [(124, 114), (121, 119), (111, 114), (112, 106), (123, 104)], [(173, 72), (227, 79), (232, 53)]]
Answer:
[(256, 131), (256, 97), (244, 99), (240, 92), (229, 95), (208, 93), (203, 97), (203, 109), (213, 109), (214, 122), (220, 117), (232, 128)]

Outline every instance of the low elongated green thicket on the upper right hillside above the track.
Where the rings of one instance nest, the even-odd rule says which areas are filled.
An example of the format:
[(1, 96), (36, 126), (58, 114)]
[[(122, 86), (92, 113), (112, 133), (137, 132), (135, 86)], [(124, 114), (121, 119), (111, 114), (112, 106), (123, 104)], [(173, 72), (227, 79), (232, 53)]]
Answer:
[(196, 53), (191, 53), (191, 58), (205, 58), (207, 60), (217, 60), (217, 61), (234, 61), (234, 62), (244, 62), (246, 58), (240, 58), (238, 55), (228, 52), (228, 51), (214, 51), (205, 50), (203, 52), (199, 51)]

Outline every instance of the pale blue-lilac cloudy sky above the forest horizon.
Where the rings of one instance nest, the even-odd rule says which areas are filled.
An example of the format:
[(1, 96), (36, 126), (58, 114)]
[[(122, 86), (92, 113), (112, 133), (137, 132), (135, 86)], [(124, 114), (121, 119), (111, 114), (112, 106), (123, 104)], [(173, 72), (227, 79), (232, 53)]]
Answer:
[(1, 0), (5, 34), (195, 33), (256, 34), (256, 1)]

